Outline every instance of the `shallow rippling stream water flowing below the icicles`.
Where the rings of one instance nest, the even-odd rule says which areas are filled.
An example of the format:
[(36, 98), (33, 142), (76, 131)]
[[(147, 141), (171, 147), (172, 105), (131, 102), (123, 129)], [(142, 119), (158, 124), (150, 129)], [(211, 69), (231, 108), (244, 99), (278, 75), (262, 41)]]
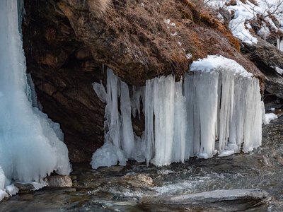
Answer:
[(191, 158), (164, 167), (129, 161), (125, 167), (98, 170), (74, 164), (72, 188), (18, 194), (2, 202), (0, 211), (142, 211), (137, 204), (144, 196), (255, 188), (272, 196), (255, 211), (282, 211), (282, 124), (283, 116), (263, 126), (262, 147), (226, 158)]

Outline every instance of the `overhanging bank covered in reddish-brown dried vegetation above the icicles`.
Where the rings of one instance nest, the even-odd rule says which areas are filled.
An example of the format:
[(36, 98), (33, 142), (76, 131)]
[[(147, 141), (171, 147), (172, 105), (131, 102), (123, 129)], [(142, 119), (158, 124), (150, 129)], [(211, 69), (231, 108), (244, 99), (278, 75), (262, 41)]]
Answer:
[[(171, 73), (180, 78), (192, 61), (208, 54), (235, 59), (248, 71), (259, 73), (239, 52), (238, 40), (229, 30), (190, 1), (112, 0), (110, 7), (108, 1), (101, 1), (100, 17), (93, 9), (100, 3), (91, 6), (90, 2), (95, 1), (83, 5), (60, 0), (57, 6), (93, 58), (128, 83), (143, 85), (146, 79)], [(165, 23), (168, 19), (170, 23)]]

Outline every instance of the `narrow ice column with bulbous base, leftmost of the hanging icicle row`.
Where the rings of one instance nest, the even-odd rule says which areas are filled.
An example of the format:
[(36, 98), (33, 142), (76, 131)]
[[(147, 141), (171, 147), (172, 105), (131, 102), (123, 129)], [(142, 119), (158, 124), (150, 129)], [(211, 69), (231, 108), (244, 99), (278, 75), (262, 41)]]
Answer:
[(93, 153), (93, 168), (116, 165), (118, 162), (120, 165), (126, 165), (127, 158), (132, 156), (134, 149), (129, 88), (111, 69), (107, 71), (107, 92), (102, 83), (93, 83), (98, 98), (106, 102), (105, 144)]

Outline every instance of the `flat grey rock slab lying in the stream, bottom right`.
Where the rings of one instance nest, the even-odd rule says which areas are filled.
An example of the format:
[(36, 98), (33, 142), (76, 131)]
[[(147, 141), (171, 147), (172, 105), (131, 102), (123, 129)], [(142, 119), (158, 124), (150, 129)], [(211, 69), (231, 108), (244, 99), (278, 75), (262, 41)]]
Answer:
[(146, 211), (245, 211), (262, 208), (270, 195), (260, 189), (231, 189), (178, 196), (149, 196), (140, 200)]

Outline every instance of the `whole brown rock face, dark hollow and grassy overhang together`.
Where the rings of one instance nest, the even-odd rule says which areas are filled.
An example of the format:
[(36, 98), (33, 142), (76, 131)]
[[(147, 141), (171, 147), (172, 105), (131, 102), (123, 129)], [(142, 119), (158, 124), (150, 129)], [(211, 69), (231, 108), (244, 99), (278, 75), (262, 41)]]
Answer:
[(105, 105), (91, 86), (105, 84), (103, 64), (141, 86), (171, 73), (180, 79), (193, 60), (221, 54), (263, 79), (229, 30), (186, 0), (25, 0), (25, 12), (28, 72), (72, 162), (91, 160), (103, 145)]

